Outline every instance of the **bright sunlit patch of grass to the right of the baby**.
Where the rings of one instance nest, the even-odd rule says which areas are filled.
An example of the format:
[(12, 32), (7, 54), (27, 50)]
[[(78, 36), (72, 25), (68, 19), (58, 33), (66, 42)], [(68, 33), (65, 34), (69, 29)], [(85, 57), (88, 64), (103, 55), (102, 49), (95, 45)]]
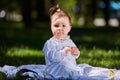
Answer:
[(81, 48), (80, 51), (81, 55), (77, 59), (77, 63), (120, 69), (119, 50), (104, 50), (93, 47), (93, 49)]

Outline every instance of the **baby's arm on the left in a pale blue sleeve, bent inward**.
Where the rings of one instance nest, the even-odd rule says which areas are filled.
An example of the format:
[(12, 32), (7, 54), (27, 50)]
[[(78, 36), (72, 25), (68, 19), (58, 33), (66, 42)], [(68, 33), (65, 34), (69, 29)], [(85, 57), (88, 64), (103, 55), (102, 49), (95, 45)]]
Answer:
[(63, 49), (57, 50), (54, 43), (46, 42), (43, 51), (45, 53), (45, 57), (52, 62), (61, 61), (66, 56), (65, 51)]

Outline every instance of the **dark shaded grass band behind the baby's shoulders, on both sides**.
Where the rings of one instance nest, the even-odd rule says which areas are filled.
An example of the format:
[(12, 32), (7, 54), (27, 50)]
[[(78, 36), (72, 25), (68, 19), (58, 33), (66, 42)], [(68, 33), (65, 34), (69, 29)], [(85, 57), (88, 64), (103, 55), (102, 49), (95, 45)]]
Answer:
[[(120, 28), (72, 28), (72, 40), (77, 46), (120, 50)], [(51, 37), (50, 28), (0, 29), (1, 47), (29, 46), (42, 49)]]

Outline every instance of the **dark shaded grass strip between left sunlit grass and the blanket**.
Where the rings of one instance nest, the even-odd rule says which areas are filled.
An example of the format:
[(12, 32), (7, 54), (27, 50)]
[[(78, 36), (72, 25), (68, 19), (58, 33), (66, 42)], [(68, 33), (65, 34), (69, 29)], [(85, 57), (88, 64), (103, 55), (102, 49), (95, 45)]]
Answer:
[(11, 57), (2, 56), (0, 57), (0, 66), (11, 65), (21, 66), (26, 64), (45, 64), (44, 56), (29, 56), (28, 57)]

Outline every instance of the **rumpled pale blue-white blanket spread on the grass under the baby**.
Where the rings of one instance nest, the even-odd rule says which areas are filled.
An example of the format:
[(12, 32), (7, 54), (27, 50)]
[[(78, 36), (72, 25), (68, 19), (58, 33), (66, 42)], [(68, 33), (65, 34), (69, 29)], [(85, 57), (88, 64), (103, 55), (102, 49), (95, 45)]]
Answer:
[[(115, 69), (88, 67), (87, 64), (80, 64), (84, 67), (86, 75), (74, 77), (77, 80), (120, 80), (120, 71)], [(45, 73), (45, 65), (22, 65), (19, 67), (5, 65), (0, 67), (0, 72), (5, 73), (8, 79), (26, 77), (26, 80), (55, 79), (52, 75)], [(109, 77), (108, 77), (109, 75)], [(63, 79), (63, 78), (62, 78)]]

